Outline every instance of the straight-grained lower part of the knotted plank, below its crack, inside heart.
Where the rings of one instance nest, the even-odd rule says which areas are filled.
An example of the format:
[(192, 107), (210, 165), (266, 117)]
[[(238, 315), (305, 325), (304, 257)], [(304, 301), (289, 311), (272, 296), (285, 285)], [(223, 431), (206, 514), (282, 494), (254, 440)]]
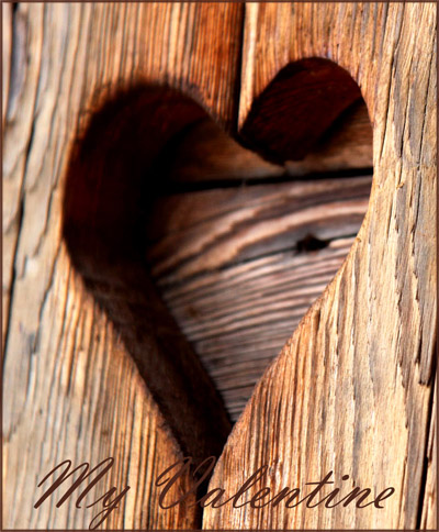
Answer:
[(352, 242), (337, 239), (320, 251), (273, 253), (161, 289), (233, 421)]

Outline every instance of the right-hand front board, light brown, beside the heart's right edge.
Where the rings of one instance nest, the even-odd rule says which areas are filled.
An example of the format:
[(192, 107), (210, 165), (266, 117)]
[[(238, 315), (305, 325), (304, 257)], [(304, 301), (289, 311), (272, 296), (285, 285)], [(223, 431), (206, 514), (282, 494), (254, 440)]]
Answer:
[(207, 508), (205, 529), (419, 525), (436, 333), (435, 35), (428, 3), (246, 7), (240, 123), (289, 62), (330, 57), (368, 104), (374, 176), (348, 259), (258, 384), (211, 486), (235, 492), (269, 463), (262, 485), (278, 489), (334, 470), (396, 494), (384, 509)]

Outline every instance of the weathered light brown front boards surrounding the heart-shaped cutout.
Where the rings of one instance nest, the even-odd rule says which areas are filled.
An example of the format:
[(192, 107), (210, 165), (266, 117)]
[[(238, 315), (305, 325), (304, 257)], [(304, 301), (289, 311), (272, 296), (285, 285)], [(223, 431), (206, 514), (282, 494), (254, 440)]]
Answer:
[[(61, 242), (68, 155), (90, 113), (121, 87), (168, 82), (234, 130), (235, 113), (240, 128), (280, 68), (313, 55), (346, 67), (365, 98), (374, 124), (371, 206), (347, 262), (256, 388), (212, 485), (233, 490), (270, 462), (277, 487), (301, 486), (333, 468), (361, 486), (394, 485), (397, 494), (375, 513), (224, 507), (207, 509), (204, 525), (414, 528), (423, 501), (421, 522), (435, 519), (434, 463), (423, 496), (419, 453), (431, 426), (436, 317), (429, 237), (436, 215), (435, 5), (245, 9), (240, 73), (241, 4), (19, 4), (11, 13), (15, 59), (3, 160), (7, 527), (88, 527), (94, 512), (74, 511), (75, 500), (33, 510), (35, 485), (54, 457), (97, 463), (109, 455), (119, 467), (112, 484), (132, 488), (105, 527), (195, 524), (193, 509), (159, 511), (155, 502), (154, 478), (181, 450)], [(318, 169), (313, 156), (304, 162), (305, 170), (290, 171), (327, 168)], [(273, 169), (261, 167), (266, 176)], [(250, 248), (252, 239), (239, 242)], [(258, 254), (250, 255), (255, 264)], [(210, 263), (192, 257), (188, 264), (185, 275)]]

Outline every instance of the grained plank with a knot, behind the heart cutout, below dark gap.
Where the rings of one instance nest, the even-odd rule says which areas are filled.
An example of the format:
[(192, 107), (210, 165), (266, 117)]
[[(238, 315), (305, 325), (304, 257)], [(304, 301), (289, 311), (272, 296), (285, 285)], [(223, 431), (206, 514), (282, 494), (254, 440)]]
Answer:
[(370, 177), (333, 178), (156, 201), (153, 277), (233, 421), (341, 266), (370, 185)]

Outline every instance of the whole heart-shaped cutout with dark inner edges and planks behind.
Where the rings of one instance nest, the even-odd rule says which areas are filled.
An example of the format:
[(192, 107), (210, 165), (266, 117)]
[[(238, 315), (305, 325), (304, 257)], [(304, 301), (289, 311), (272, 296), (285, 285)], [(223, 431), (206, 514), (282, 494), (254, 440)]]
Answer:
[(264, 159), (188, 96), (136, 87), (92, 115), (66, 179), (72, 264), (195, 461), (219, 456), (371, 186), (360, 89), (326, 59), (284, 68), (235, 136)]

